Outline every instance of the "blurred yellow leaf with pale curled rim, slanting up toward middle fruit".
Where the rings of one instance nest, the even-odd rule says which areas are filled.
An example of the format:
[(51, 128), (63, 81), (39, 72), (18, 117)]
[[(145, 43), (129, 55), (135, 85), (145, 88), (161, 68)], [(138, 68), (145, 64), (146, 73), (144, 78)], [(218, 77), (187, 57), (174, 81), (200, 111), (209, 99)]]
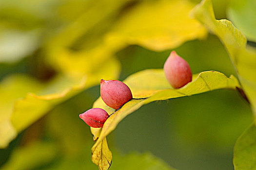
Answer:
[(101, 78), (116, 78), (118, 73), (119, 63), (117, 60), (112, 59), (100, 67), (97, 72), (88, 74), (79, 81), (69, 80), (67, 77), (53, 81), (40, 92), (45, 95), (28, 93), (25, 98), (15, 103), (11, 117), (12, 124), (20, 132), (47, 113), (56, 104), (71, 98), (88, 87), (99, 84)]

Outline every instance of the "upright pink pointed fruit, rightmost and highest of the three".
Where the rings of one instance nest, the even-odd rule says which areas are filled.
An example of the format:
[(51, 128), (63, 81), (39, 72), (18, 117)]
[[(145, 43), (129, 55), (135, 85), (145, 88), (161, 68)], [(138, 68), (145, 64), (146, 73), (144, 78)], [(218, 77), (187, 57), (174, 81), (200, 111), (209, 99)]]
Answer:
[(165, 77), (174, 88), (180, 88), (192, 81), (192, 71), (189, 64), (172, 51), (164, 63)]

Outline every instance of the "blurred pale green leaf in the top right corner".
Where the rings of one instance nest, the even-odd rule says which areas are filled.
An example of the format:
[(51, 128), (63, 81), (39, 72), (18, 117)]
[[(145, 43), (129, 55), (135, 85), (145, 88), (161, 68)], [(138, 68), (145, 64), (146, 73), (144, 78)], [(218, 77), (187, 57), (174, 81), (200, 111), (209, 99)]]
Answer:
[(230, 0), (228, 17), (250, 40), (256, 42), (256, 0)]

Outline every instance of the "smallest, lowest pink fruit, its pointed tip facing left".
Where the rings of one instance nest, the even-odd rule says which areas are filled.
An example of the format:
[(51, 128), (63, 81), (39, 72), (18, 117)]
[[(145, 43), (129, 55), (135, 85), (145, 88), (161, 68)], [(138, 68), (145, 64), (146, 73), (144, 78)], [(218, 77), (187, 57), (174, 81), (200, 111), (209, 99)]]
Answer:
[(108, 113), (101, 108), (92, 108), (79, 115), (79, 118), (94, 128), (103, 127), (108, 117)]

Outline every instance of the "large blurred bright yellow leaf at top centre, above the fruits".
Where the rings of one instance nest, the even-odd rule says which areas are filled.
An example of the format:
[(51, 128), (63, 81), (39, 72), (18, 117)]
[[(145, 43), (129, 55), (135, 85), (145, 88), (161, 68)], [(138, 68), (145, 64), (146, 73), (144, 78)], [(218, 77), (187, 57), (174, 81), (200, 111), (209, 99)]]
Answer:
[(154, 51), (175, 48), (207, 34), (189, 17), (193, 7), (188, 0), (144, 0), (124, 15), (108, 36)]

